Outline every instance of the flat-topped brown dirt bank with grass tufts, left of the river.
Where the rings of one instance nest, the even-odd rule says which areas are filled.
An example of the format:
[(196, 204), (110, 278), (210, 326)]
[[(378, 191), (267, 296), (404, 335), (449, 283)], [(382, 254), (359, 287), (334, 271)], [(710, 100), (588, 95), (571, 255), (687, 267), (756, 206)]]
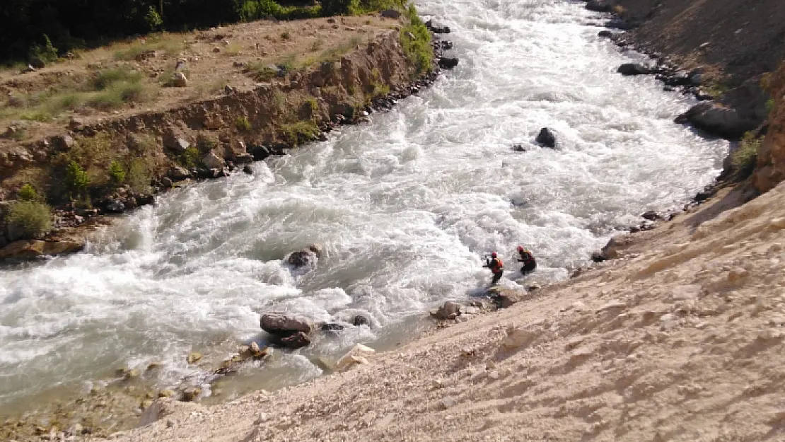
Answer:
[[(60, 210), (46, 240), (6, 246), (17, 235), (0, 205), (0, 259), (81, 250), (74, 227), (152, 203), (178, 181), (223, 177), (323, 139), (416, 92), (434, 68), (429, 31), (404, 13), (163, 35), (5, 73), (0, 203), (24, 199), (27, 186)], [(32, 92), (42, 87), (51, 92)]]

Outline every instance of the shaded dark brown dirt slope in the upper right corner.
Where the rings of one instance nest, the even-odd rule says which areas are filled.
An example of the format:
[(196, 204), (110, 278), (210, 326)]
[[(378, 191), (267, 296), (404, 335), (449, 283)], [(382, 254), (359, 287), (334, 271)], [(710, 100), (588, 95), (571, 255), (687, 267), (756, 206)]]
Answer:
[(785, 56), (785, 3), (777, 0), (614, 0), (615, 11), (639, 25), (632, 42), (683, 68), (703, 66), (720, 100), (762, 122), (769, 94), (761, 79)]

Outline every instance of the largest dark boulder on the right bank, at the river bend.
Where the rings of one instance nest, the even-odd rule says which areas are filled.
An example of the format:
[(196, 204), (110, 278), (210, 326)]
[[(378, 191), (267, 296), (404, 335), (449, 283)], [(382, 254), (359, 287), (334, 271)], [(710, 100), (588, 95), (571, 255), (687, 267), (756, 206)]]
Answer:
[(696, 129), (726, 138), (738, 140), (750, 130), (754, 130), (758, 123), (751, 118), (740, 115), (736, 109), (723, 108), (711, 101), (696, 104), (684, 114), (679, 115), (677, 123), (689, 122)]

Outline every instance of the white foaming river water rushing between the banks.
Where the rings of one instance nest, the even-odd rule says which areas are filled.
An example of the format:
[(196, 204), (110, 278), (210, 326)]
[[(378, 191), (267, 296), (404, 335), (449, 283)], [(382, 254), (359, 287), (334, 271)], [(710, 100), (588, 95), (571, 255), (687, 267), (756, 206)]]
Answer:
[[(174, 382), (192, 371), (188, 351), (226, 356), (268, 309), (371, 318), (264, 374), (298, 382), (320, 372), (306, 356), (405, 334), (440, 301), (478, 293), (491, 250), (507, 285), (517, 244), (535, 252), (537, 279), (564, 279), (615, 229), (717, 174), (727, 144), (675, 125), (690, 103), (654, 79), (615, 74), (633, 55), (597, 38), (582, 2), (420, 12), (451, 27), (461, 59), (432, 89), (253, 176), (162, 195), (84, 253), (0, 269), (0, 403), (154, 360)], [(557, 150), (533, 144), (543, 126)], [(326, 251), (314, 268), (285, 265), (309, 243)]]

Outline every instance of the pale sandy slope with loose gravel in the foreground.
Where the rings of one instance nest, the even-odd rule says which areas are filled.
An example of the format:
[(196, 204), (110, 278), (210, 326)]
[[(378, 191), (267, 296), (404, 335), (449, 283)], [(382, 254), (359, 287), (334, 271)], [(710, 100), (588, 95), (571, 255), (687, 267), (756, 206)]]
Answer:
[(785, 185), (722, 212), (740, 193), (511, 309), (114, 438), (785, 440)]

